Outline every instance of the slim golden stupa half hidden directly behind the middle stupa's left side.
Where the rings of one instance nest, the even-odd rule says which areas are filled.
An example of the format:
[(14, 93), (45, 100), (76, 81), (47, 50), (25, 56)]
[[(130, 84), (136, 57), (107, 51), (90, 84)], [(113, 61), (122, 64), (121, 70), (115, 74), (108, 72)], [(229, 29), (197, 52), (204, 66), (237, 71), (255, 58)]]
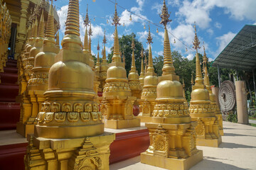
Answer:
[(105, 80), (107, 79), (107, 69), (109, 68), (109, 64), (107, 63), (107, 57), (106, 57), (106, 30), (104, 31), (104, 38), (102, 40), (104, 47), (102, 51), (102, 62), (100, 63), (100, 86), (99, 90), (102, 91), (104, 89), (104, 86), (106, 84)]

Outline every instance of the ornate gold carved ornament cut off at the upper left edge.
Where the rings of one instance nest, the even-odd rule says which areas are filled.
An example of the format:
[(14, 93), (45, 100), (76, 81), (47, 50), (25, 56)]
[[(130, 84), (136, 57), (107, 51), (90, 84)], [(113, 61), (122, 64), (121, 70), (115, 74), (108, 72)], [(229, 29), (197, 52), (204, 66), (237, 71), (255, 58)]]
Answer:
[[(11, 38), (11, 16), (6, 3), (0, 0), (0, 72), (4, 72), (6, 66), (8, 45)], [(1, 83), (1, 79), (0, 79)]]

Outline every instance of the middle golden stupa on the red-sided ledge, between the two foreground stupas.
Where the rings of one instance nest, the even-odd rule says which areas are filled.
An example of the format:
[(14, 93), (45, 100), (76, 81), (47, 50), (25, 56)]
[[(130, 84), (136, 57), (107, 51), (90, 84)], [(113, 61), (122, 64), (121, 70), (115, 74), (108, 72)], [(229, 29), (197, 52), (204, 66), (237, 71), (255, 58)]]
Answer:
[(107, 69), (106, 84), (103, 89), (100, 111), (104, 118), (105, 128), (121, 129), (140, 126), (140, 120), (134, 118), (133, 104), (136, 97), (132, 96), (129, 88), (127, 73), (124, 63), (121, 61), (119, 52), (119, 40), (117, 25), (119, 23), (117, 15), (117, 4), (115, 4), (113, 25), (114, 29), (114, 54), (112, 63)]

